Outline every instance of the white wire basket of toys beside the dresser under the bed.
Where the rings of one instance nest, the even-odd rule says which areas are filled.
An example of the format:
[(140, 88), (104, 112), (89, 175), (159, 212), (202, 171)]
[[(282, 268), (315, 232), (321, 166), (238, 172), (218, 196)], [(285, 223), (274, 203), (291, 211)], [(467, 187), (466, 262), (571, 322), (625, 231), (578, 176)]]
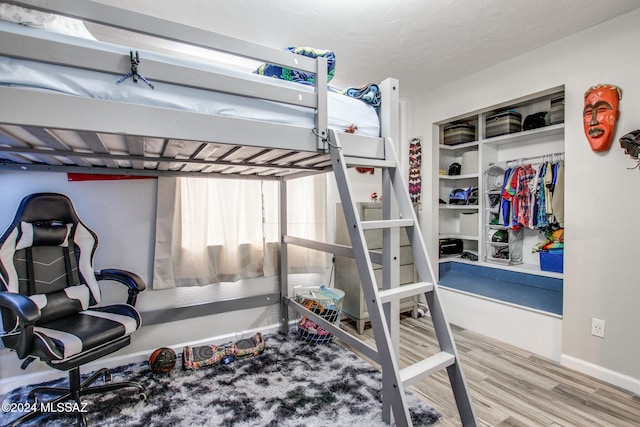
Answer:
[[(300, 287), (295, 289), (298, 304), (319, 315), (328, 322), (340, 323), (344, 292), (340, 289), (320, 287)], [(298, 335), (301, 340), (312, 344), (324, 344), (332, 340), (332, 335), (306, 316), (300, 319)]]

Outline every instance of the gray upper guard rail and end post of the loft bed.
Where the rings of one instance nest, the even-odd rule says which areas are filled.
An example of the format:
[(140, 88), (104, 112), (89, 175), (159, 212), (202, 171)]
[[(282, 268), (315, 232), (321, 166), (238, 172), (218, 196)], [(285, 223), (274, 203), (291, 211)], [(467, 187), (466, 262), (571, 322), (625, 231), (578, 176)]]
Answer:
[[(313, 93), (300, 90), (296, 84), (289, 87), (270, 85), (268, 82), (252, 82), (233, 76), (222, 76), (211, 72), (185, 68), (181, 66), (167, 67), (152, 60), (141, 58), (143, 74), (151, 81), (166, 82), (182, 86), (196, 87), (217, 92), (283, 102), (302, 107), (310, 107), (316, 111), (316, 129), (318, 149), (323, 148), (328, 135), (327, 115), (327, 61), (325, 58), (309, 58), (290, 52), (262, 46), (256, 43), (235, 39), (211, 31), (190, 27), (177, 22), (168, 21), (132, 12), (113, 6), (88, 0), (26, 0), (6, 3), (41, 10), (71, 18), (80, 19), (112, 28), (131, 31), (157, 39), (182, 43), (214, 52), (222, 52), (236, 57), (258, 62), (276, 64), (316, 75)], [(20, 43), (17, 43), (17, 40)], [(31, 43), (31, 44), (30, 44)], [(115, 74), (125, 74), (130, 68), (130, 51), (123, 47), (122, 54), (107, 55), (86, 48), (78, 50), (69, 48), (55, 41), (42, 45), (42, 40), (17, 35), (3, 34), (0, 39), (0, 53), (6, 56), (31, 59), (60, 65), (69, 65), (86, 69), (100, 70)], [(265, 79), (266, 80), (266, 79)]]

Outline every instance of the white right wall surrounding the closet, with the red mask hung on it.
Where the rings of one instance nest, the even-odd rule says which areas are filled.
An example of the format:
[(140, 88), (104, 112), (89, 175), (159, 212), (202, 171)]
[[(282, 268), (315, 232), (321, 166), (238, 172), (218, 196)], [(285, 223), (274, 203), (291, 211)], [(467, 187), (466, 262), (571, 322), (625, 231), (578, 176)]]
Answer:
[[(437, 143), (431, 123), (565, 85), (563, 363), (636, 392), (640, 231), (634, 219), (640, 209), (640, 170), (628, 170), (635, 163), (618, 138), (640, 128), (639, 19), (640, 11), (629, 13), (412, 99), (413, 134), (425, 137), (429, 151)], [(623, 91), (615, 142), (606, 153), (591, 151), (582, 128), (583, 94), (598, 83), (616, 84)], [(434, 188), (431, 180), (425, 185)], [(435, 242), (437, 224), (429, 209), (423, 220), (431, 227), (426, 227), (427, 237)], [(592, 317), (606, 321), (604, 339), (590, 334)]]

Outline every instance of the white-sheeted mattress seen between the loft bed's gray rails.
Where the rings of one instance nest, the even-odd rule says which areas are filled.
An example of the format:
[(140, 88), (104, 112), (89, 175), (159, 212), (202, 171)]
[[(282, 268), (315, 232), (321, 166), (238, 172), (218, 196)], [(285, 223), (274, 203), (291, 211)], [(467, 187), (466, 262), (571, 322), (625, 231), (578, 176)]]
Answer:
[[(0, 31), (4, 30), (14, 33), (37, 34), (42, 38), (64, 41), (68, 44), (88, 46), (104, 51), (121, 53), (126, 56), (129, 55), (129, 49), (123, 46), (51, 33), (37, 28), (28, 28), (0, 21)], [(301, 92), (313, 92), (312, 87), (303, 84), (244, 73), (211, 64), (197, 63), (183, 58), (140, 51), (141, 63), (139, 71), (143, 75), (145, 58), (216, 73), (241, 76), (247, 80), (261, 81), (270, 85), (283, 85), (288, 88), (294, 85), (293, 87)], [(226, 93), (214, 93), (166, 83), (154, 82), (155, 89), (149, 88), (141, 80), (138, 80), (137, 84), (133, 83), (131, 79), (121, 84), (116, 84), (120, 77), (120, 75), (110, 73), (0, 56), (0, 84), (6, 86), (51, 90), (69, 95), (138, 103), (212, 115), (233, 116), (307, 128), (315, 127), (315, 113), (311, 108)], [(356, 124), (358, 134), (379, 136), (379, 119), (375, 109), (358, 99), (329, 92), (328, 111), (329, 127), (332, 129), (342, 131), (350, 125)]]

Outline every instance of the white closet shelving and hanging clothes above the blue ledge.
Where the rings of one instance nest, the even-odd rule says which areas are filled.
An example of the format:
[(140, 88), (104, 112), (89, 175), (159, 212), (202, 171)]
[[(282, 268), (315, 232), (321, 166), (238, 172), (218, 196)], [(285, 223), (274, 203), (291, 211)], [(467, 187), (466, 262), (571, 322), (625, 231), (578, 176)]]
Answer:
[[(434, 262), (508, 267), (562, 277), (560, 272), (548, 270), (544, 261), (541, 265), (535, 251), (555, 216), (530, 206), (529, 195), (546, 195), (546, 202), (552, 196), (556, 201), (562, 197), (562, 180), (557, 185), (556, 178), (564, 167), (563, 107), (563, 88), (556, 87), (434, 124), (439, 158), (434, 182), (439, 206), (438, 229), (433, 235), (438, 236), (440, 249)], [(531, 117), (539, 120), (531, 124)], [(545, 176), (552, 177), (553, 184), (539, 182), (547, 165), (553, 173)], [(509, 178), (505, 172), (514, 170), (520, 176), (505, 182)], [(554, 184), (550, 192), (549, 186)], [(529, 190), (533, 185), (538, 188)], [(503, 196), (509, 193), (516, 203), (505, 212)], [(546, 211), (550, 209), (551, 205)], [(514, 210), (519, 218), (511, 220)], [(531, 222), (534, 210), (536, 218)], [(500, 237), (507, 232), (514, 235), (513, 241)], [(513, 246), (521, 247), (515, 258), (508, 255), (510, 249), (513, 255)], [(507, 256), (500, 255), (505, 252)]]

